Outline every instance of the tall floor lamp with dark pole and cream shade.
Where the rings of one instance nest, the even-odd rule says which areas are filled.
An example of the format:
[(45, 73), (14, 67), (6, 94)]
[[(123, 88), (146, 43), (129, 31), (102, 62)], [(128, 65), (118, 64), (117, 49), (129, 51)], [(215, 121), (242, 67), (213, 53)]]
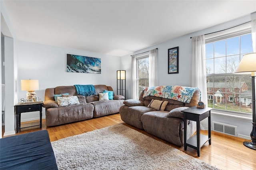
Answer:
[(244, 142), (244, 146), (256, 150), (256, 110), (255, 110), (255, 72), (256, 72), (256, 53), (244, 55), (234, 73), (251, 73), (252, 78), (252, 142)]

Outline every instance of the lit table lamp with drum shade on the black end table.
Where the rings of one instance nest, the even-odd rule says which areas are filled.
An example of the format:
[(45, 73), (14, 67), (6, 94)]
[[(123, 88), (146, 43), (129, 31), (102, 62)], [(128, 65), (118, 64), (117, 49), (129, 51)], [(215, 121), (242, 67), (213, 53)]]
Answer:
[(21, 80), (21, 90), (28, 91), (26, 98), (28, 101), (36, 101), (35, 90), (39, 90), (38, 80)]

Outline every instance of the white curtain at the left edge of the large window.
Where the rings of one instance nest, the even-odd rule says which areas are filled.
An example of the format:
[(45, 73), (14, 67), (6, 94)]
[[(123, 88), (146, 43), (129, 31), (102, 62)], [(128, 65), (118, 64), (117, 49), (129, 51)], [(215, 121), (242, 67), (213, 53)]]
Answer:
[[(191, 50), (191, 87), (198, 87), (201, 90), (201, 101), (208, 106), (207, 85), (206, 85), (206, 61), (205, 61), (205, 38), (204, 35), (192, 37)], [(208, 129), (208, 120), (200, 123), (201, 129)]]

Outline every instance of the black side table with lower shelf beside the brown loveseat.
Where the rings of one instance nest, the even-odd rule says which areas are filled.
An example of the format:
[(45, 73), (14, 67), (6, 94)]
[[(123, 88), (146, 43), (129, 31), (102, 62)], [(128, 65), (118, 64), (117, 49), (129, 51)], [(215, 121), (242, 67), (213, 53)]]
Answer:
[[(211, 144), (211, 110), (212, 108), (198, 109), (195, 107), (190, 107), (184, 109), (184, 150), (187, 150), (187, 146), (197, 150), (197, 155), (200, 156), (201, 147), (209, 141)], [(200, 121), (208, 117), (208, 136), (200, 134)], [(196, 135), (187, 139), (187, 121), (196, 121)]]

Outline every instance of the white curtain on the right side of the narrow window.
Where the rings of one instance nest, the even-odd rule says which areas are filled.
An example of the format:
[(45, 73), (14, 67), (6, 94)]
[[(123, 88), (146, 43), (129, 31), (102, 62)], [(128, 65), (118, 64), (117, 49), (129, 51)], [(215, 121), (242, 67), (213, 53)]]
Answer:
[(157, 86), (157, 49), (149, 51), (149, 87)]

